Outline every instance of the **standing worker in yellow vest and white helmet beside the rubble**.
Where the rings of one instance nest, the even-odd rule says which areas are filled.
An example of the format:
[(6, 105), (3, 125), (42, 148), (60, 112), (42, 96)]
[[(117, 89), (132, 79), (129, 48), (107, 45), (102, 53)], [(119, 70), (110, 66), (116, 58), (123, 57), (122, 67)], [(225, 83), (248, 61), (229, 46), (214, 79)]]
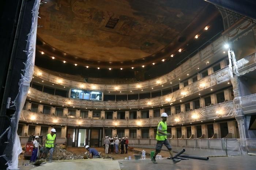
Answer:
[(51, 133), (46, 135), (44, 143), (44, 159), (46, 159), (48, 152), (50, 151), (49, 162), (52, 162), (52, 154), (54, 151), (54, 145), (56, 143), (56, 130), (54, 128), (51, 130)]

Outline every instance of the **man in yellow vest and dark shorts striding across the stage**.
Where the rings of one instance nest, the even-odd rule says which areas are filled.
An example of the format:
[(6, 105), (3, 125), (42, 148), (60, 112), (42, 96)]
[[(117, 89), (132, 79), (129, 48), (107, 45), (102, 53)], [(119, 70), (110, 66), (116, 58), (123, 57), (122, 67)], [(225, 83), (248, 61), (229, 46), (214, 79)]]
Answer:
[(153, 163), (157, 163), (155, 161), (155, 157), (157, 156), (158, 153), (160, 153), (163, 145), (165, 145), (167, 147), (167, 149), (169, 150), (171, 159), (173, 160), (173, 163), (177, 163), (177, 162), (181, 161), (181, 159), (173, 157), (172, 146), (170, 145), (169, 141), (167, 140), (167, 137), (171, 136), (170, 133), (167, 133), (167, 124), (166, 124), (167, 117), (168, 117), (167, 113), (163, 112), (161, 114), (162, 120), (158, 123), (158, 126), (157, 126), (157, 135), (156, 135), (157, 146), (155, 147), (155, 154), (151, 158), (151, 161)]

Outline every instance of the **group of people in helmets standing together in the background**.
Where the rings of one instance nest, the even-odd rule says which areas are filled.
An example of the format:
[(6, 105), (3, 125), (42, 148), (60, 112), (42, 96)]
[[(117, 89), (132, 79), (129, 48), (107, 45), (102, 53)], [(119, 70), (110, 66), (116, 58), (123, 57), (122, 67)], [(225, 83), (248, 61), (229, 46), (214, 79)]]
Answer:
[[(113, 154), (114, 149), (115, 153), (118, 154), (124, 154), (124, 147), (125, 147), (125, 153), (127, 154), (127, 147), (129, 144), (128, 138), (110, 138), (108, 136), (105, 137), (103, 144), (105, 145), (105, 154), (111, 153)], [(110, 146), (110, 147), (109, 147)]]

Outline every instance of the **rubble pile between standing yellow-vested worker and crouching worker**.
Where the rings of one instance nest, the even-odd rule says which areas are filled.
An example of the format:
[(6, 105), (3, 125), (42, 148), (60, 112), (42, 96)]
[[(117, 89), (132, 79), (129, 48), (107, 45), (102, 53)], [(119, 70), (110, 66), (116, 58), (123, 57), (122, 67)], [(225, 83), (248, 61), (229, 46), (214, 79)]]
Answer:
[(53, 152), (53, 160), (73, 160), (73, 159), (84, 159), (84, 155), (76, 155), (72, 152), (69, 152), (60, 146), (56, 146)]

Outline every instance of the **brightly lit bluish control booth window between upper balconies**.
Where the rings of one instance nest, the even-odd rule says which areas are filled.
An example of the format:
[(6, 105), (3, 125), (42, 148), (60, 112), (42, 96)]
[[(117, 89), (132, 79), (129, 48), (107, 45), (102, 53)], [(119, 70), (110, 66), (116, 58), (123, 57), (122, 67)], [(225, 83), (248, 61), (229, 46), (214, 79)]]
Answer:
[(87, 91), (71, 89), (70, 97), (73, 99), (84, 99), (84, 100), (103, 100), (103, 93), (98, 91)]

